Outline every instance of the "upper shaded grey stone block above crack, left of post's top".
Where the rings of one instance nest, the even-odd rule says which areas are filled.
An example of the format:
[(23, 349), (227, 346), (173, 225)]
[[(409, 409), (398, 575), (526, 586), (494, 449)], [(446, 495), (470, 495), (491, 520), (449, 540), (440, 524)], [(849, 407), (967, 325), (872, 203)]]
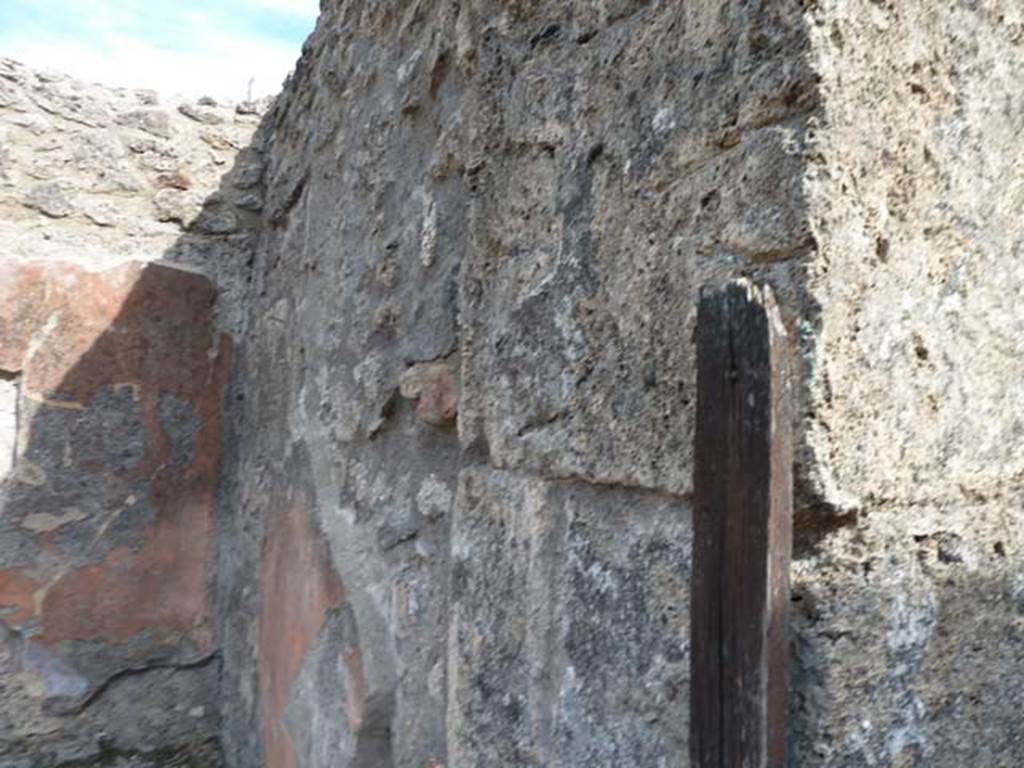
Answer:
[(806, 38), (791, 3), (587, 5), (468, 11), (460, 429), (499, 466), (685, 493), (697, 289), (809, 244)]

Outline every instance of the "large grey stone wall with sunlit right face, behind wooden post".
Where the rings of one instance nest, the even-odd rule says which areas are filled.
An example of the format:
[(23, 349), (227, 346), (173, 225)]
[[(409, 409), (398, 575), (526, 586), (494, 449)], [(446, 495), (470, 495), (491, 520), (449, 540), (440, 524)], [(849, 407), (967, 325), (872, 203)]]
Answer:
[(346, 595), (316, 647), (364, 667), (296, 676), (275, 764), (685, 764), (694, 299), (737, 273), (804, 381), (792, 764), (1019, 764), (1019, 15), (326, 6), (274, 118), (239, 524), (255, 562), (301, 478)]

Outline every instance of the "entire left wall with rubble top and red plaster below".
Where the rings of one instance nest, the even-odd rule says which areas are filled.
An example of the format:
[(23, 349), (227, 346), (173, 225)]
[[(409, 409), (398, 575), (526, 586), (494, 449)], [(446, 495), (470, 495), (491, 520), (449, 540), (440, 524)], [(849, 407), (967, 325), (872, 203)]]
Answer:
[(0, 59), (0, 765), (219, 764), (257, 120)]

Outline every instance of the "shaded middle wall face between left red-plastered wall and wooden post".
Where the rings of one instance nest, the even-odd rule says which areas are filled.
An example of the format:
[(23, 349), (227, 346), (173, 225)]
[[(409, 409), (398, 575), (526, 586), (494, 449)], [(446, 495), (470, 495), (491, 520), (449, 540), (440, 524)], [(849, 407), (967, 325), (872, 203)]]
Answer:
[(267, 125), (232, 764), (686, 763), (695, 297), (797, 293), (802, 25), (325, 4)]

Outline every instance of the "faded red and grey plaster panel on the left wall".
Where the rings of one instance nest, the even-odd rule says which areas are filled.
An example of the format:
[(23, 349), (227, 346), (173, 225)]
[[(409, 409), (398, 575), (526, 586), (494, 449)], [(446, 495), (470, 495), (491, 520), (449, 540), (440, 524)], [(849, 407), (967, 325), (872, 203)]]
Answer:
[[(213, 299), (209, 280), (165, 266), (0, 264), (0, 367), (18, 374), (0, 605), (19, 657), (6, 693), (28, 707), (5, 711), (0, 755), (42, 760), (48, 735), (71, 727), (60, 717), (99, 717), (90, 705), (126, 671), (214, 650), (231, 349), (213, 333)], [(207, 706), (211, 693), (191, 695)]]

